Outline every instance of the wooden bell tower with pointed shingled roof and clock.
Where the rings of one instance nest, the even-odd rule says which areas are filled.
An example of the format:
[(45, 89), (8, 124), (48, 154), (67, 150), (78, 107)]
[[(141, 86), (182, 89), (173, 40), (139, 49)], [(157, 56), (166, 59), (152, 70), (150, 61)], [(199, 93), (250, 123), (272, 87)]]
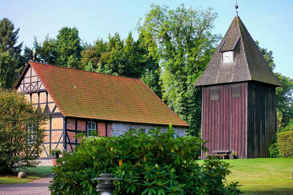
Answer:
[(195, 85), (202, 87), (207, 153), (229, 150), (236, 158), (268, 157), (277, 131), (275, 88), (281, 83), (238, 14)]

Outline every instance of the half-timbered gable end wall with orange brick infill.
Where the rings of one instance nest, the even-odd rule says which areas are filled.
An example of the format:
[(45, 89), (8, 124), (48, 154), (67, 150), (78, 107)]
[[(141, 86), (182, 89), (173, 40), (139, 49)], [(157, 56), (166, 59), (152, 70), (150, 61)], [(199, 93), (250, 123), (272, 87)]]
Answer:
[(46, 137), (42, 144), (44, 151), (40, 154), (40, 159), (50, 159), (52, 149), (63, 149), (62, 113), (31, 67), (28, 67), (24, 73), (17, 91), (25, 94), (26, 99), (31, 101), (35, 108), (46, 112), (50, 116), (47, 124), (43, 126)]

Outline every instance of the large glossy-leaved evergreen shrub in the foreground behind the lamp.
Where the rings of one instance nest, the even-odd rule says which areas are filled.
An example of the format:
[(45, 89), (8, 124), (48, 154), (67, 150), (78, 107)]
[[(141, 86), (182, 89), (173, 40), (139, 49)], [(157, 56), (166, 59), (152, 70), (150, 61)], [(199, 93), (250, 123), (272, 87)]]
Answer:
[(119, 137), (90, 138), (57, 161), (49, 187), (52, 194), (98, 194), (100, 173), (113, 173), (115, 194), (240, 194), (238, 182), (225, 184), (229, 163), (208, 160), (197, 163), (202, 140), (174, 139), (169, 128), (146, 132), (130, 129)]

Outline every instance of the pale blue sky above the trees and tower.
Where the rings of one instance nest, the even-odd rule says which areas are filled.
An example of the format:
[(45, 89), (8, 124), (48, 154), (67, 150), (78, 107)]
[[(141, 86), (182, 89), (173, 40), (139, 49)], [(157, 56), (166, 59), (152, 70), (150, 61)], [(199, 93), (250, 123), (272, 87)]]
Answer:
[[(238, 0), (239, 17), (260, 46), (273, 51), (276, 72), (293, 78), (293, 1), (292, 0)], [(108, 33), (120, 33), (124, 39), (129, 31), (137, 39), (135, 27), (151, 3), (167, 5), (171, 9), (183, 3), (186, 6), (214, 8), (218, 18), (214, 34), (225, 34), (235, 16), (235, 0), (188, 1), (13, 1), (0, 0), (0, 18), (7, 17), (20, 27), (19, 41), (33, 46), (34, 36), (41, 42), (45, 36), (55, 37), (64, 26), (77, 27), (84, 42), (92, 43), (98, 37), (107, 39)]]

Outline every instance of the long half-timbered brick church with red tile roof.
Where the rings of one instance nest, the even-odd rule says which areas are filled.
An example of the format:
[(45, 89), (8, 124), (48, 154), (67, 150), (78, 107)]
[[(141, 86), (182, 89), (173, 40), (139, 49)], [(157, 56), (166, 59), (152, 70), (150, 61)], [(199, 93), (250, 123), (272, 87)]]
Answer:
[(172, 124), (177, 136), (189, 125), (139, 79), (28, 62), (14, 89), (49, 115), (41, 165), (52, 165), (52, 149), (74, 151), (75, 135), (118, 136), (130, 128)]

